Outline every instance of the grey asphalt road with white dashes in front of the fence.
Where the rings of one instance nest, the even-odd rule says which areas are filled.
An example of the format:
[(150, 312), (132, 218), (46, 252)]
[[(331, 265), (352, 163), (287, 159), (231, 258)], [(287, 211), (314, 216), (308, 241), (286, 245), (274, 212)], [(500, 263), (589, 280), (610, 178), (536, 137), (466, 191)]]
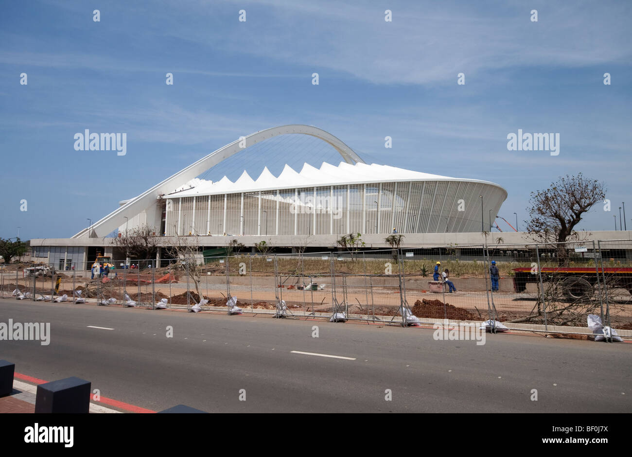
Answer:
[(16, 372), (78, 376), (102, 396), (155, 411), (632, 411), (627, 343), (487, 334), (477, 345), (413, 327), (0, 300), (0, 322), (8, 319), (51, 323), (48, 346), (0, 341)]

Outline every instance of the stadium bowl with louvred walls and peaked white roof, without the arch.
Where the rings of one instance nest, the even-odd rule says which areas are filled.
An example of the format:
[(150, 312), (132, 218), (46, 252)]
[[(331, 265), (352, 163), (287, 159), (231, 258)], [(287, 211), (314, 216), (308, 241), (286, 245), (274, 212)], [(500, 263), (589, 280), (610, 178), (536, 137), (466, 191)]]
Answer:
[(300, 173), (286, 165), (276, 177), (264, 168), (257, 180), (244, 171), (235, 182), (224, 176), (190, 185), (164, 195), (164, 235), (480, 231), (479, 195), (494, 218), (507, 196), (485, 181), (362, 162), (305, 164)]

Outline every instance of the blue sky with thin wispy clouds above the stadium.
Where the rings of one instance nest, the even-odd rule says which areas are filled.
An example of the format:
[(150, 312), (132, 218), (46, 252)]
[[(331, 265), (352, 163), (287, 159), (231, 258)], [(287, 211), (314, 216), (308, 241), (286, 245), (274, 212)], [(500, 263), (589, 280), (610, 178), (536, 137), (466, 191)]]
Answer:
[[(596, 205), (580, 229), (612, 229), (632, 181), (631, 18), (626, 1), (4, 1), (0, 236), (71, 236), (240, 135), (291, 123), (368, 162), (494, 181), (521, 227), (530, 192), (582, 172), (612, 211)], [(86, 128), (127, 133), (126, 155), (74, 150)], [(559, 133), (559, 155), (507, 150), (519, 128)]]

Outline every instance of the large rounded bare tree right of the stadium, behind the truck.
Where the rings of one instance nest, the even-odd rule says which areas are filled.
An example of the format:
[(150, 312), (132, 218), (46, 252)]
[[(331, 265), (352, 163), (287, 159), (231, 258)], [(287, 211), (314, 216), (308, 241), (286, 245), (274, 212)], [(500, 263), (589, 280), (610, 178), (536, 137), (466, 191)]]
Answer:
[(565, 265), (568, 253), (564, 243), (569, 238), (579, 240), (574, 228), (580, 223), (581, 216), (604, 198), (604, 183), (588, 180), (581, 173), (576, 176), (567, 174), (549, 188), (531, 193), (527, 231), (535, 241), (560, 243), (557, 259), (560, 265)]

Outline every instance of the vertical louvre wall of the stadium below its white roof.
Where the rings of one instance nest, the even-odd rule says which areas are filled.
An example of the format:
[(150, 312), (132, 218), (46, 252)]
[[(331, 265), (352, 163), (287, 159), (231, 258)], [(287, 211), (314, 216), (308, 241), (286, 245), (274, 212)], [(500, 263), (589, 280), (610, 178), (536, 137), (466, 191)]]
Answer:
[[(481, 198), (483, 196), (483, 210)], [(478, 181), (389, 181), (178, 197), (164, 235), (309, 236), (476, 232), (506, 192)], [(483, 214), (483, 216), (481, 216)]]

